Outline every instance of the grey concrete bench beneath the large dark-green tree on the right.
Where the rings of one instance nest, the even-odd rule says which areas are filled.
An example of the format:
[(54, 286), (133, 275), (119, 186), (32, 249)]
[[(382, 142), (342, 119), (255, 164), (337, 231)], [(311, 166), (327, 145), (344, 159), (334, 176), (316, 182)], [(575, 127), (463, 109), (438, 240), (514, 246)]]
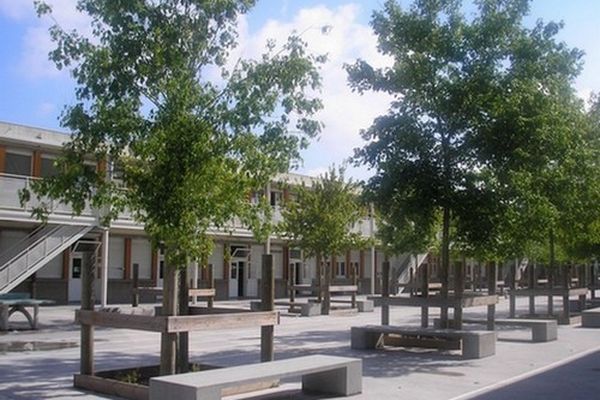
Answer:
[(413, 328), (389, 325), (367, 325), (352, 327), (351, 348), (375, 349), (382, 347), (385, 335), (403, 337), (460, 340), (465, 359), (483, 358), (496, 354), (496, 333), (491, 331), (462, 331), (450, 329)]

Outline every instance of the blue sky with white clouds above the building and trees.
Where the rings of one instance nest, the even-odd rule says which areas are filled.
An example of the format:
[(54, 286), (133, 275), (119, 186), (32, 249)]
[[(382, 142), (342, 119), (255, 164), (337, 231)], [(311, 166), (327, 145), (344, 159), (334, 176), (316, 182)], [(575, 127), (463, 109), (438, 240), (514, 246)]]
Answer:
[[(89, 31), (88, 20), (76, 12), (76, 0), (47, 0), (55, 19), (63, 26)], [(409, 0), (400, 0), (409, 5)], [(320, 96), (324, 109), (318, 117), (325, 128), (318, 140), (303, 151), (303, 166), (297, 171), (319, 175), (344, 162), (353, 149), (364, 144), (360, 130), (387, 111), (390, 98), (378, 93), (358, 95), (347, 85), (345, 63), (357, 58), (386, 66), (390, 60), (376, 50), (369, 20), (383, 0), (259, 0), (239, 21), (239, 46), (234, 57), (258, 57), (268, 39), (283, 40), (294, 30), (302, 32), (311, 51), (327, 54), (321, 70)], [(468, 4), (465, 12), (472, 12)], [(558, 38), (583, 50), (584, 69), (576, 81), (579, 95), (587, 99), (600, 92), (600, 1), (533, 0), (525, 23), (537, 19), (564, 21)], [(75, 100), (74, 85), (67, 71), (58, 71), (48, 61), (53, 44), (48, 18), (39, 19), (32, 0), (0, 0), (0, 121), (64, 131), (59, 116)], [(331, 29), (324, 35), (321, 27)], [(364, 167), (348, 167), (348, 175), (365, 179)]]

